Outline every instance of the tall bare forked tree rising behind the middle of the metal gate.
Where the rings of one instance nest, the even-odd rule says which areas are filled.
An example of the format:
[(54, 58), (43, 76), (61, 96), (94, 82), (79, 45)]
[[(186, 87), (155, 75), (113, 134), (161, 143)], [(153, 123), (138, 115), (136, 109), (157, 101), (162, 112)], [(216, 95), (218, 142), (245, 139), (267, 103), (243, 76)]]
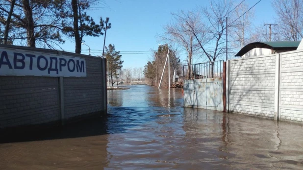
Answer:
[[(203, 54), (211, 62), (211, 76), (213, 76), (214, 61), (226, 53), (227, 40), (224, 36), (227, 28), (226, 19), (229, 17), (232, 7), (231, 0), (211, 0), (210, 8), (202, 7), (193, 13), (193, 17), (200, 18), (199, 23), (196, 23), (196, 19), (193, 17), (186, 19), (189, 30), (194, 34)], [(200, 13), (202, 17), (200, 17)], [(228, 27), (232, 26), (231, 24), (228, 25)]]

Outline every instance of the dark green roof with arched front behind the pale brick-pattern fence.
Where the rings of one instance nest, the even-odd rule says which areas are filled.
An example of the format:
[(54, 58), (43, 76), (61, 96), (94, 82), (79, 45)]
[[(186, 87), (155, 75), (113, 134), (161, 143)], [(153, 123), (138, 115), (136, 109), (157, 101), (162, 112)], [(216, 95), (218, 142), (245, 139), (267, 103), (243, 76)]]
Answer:
[(301, 41), (255, 42), (244, 46), (235, 56), (242, 56), (254, 48), (296, 50)]

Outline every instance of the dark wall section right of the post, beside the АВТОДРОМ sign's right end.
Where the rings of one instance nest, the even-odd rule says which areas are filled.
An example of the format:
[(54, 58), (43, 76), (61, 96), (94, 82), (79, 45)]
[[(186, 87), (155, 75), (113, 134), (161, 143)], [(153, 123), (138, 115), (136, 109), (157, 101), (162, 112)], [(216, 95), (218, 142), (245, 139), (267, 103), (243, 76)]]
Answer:
[[(84, 78), (64, 78), (65, 119), (104, 110), (106, 81), (102, 81), (102, 60), (86, 57), (87, 76)], [(104, 87), (105, 86), (105, 87)], [(106, 103), (106, 101), (105, 101)]]

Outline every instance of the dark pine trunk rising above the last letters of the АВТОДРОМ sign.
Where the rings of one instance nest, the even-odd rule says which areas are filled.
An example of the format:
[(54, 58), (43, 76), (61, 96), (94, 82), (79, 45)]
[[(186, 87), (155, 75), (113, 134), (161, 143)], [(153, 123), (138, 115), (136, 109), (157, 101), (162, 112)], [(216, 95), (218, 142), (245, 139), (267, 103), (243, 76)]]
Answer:
[(76, 42), (76, 49), (75, 52), (77, 54), (81, 53), (81, 40), (79, 35), (79, 26), (78, 26), (78, 4), (77, 0), (72, 0), (72, 8), (74, 14), (74, 34), (75, 34), (75, 42)]

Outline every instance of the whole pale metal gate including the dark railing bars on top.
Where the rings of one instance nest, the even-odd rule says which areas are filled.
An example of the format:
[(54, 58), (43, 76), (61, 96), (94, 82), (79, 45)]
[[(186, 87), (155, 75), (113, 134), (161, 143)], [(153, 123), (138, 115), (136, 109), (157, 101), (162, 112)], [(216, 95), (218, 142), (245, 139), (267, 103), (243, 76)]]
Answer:
[(223, 62), (183, 66), (185, 107), (223, 110)]

